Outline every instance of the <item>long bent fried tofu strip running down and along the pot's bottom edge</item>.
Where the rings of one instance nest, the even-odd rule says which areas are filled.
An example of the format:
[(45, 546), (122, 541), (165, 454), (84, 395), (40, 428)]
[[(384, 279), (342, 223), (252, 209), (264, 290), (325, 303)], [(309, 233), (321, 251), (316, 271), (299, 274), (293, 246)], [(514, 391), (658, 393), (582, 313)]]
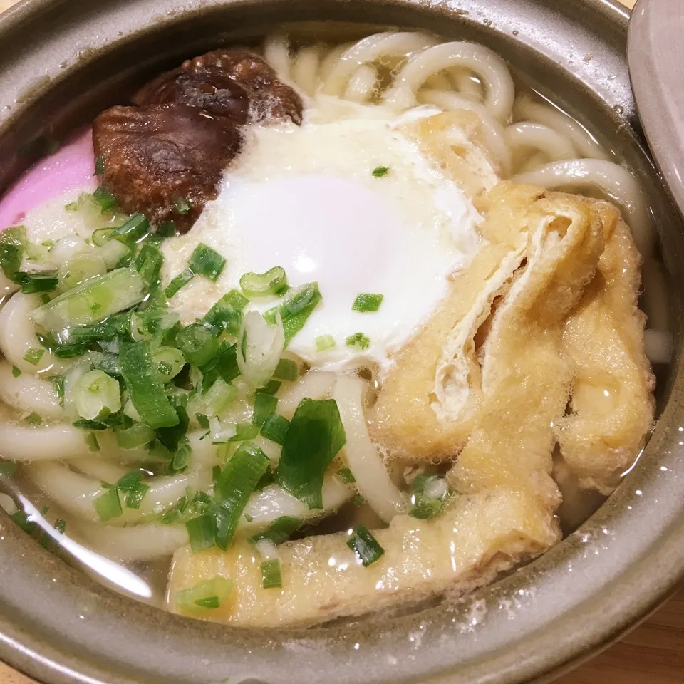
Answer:
[(538, 189), (521, 192), (527, 210), (512, 229), (527, 236), (527, 264), (492, 319), (480, 408), (450, 473), (458, 492), (450, 507), (429, 520), (400, 514), (374, 532), (384, 553), (368, 567), (348, 549), (345, 533), (281, 544), (282, 589), (262, 588), (261, 559), (247, 541), (227, 551), (181, 549), (170, 574), (170, 610), (178, 609), (178, 591), (222, 576), (234, 581), (232, 597), (203, 617), (240, 626), (309, 626), (468, 591), (559, 539), (551, 423), (564, 411), (571, 380), (559, 350), (565, 319), (594, 276), (603, 226), (585, 204), (537, 201)]

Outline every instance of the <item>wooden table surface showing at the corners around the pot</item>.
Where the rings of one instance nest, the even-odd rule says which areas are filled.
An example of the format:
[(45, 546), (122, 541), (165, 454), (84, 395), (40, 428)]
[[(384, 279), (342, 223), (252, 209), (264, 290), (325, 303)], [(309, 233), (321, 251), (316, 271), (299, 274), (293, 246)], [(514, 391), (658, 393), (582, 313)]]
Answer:
[[(0, 11), (15, 1), (0, 0)], [(0, 663), (0, 684), (36, 683)], [(684, 589), (622, 641), (555, 684), (684, 684)]]

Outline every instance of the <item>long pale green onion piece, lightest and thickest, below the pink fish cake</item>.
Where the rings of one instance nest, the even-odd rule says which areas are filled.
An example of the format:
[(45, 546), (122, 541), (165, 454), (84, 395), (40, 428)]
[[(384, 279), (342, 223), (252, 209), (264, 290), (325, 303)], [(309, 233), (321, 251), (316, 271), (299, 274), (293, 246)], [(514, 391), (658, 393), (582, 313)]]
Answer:
[(132, 269), (117, 269), (86, 280), (33, 311), (31, 318), (48, 332), (90, 326), (142, 301), (147, 287)]

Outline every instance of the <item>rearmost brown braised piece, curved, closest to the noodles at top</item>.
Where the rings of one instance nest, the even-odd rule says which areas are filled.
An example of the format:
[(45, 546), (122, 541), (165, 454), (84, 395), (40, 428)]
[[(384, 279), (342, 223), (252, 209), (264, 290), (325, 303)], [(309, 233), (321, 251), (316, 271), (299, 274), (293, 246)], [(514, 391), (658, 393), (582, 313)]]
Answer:
[(223, 48), (183, 62), (185, 71), (202, 73), (218, 68), (249, 94), (250, 121), (290, 119), (301, 123), (304, 105), (299, 95), (278, 80), (276, 70), (244, 48)]

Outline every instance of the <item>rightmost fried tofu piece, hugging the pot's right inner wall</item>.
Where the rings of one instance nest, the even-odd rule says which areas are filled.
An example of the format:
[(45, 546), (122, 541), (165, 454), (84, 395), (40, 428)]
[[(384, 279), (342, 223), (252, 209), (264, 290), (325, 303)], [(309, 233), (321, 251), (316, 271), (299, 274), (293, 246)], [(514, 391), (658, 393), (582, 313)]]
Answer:
[(638, 309), (641, 257), (615, 207), (587, 202), (601, 216), (606, 248), (565, 324), (571, 413), (556, 421), (556, 437), (580, 486), (610, 494), (653, 425), (655, 378), (644, 346), (646, 316)]

